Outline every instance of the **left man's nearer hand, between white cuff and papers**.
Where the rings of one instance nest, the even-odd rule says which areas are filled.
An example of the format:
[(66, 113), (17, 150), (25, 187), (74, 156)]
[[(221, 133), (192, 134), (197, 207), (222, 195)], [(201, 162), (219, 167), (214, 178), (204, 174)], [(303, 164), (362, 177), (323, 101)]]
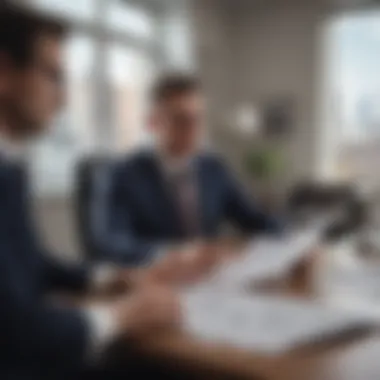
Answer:
[(180, 302), (166, 287), (142, 286), (117, 301), (114, 313), (119, 331), (135, 335), (157, 328), (172, 328), (181, 322)]

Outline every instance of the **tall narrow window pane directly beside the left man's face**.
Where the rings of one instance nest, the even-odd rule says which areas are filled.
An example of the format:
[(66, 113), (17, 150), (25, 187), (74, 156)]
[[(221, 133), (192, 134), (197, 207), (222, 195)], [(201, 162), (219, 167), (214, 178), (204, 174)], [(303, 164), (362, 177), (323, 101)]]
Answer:
[(68, 103), (51, 132), (35, 147), (32, 167), (37, 194), (67, 194), (73, 187), (74, 167), (94, 141), (91, 72), (94, 43), (73, 36), (67, 44)]

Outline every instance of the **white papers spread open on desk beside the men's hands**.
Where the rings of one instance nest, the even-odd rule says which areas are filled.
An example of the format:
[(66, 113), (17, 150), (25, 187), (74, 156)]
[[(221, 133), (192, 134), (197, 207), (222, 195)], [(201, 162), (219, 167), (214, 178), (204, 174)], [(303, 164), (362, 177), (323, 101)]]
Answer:
[(365, 313), (243, 291), (252, 281), (279, 276), (294, 267), (319, 244), (325, 225), (318, 221), (277, 239), (255, 239), (240, 260), (185, 290), (186, 329), (208, 341), (278, 353), (372, 326), (373, 318)]

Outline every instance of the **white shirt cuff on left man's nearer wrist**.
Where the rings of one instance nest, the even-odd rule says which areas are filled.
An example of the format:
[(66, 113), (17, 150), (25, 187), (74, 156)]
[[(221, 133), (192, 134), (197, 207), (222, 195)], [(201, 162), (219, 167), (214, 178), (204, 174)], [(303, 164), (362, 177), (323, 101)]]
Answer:
[(88, 359), (95, 363), (118, 336), (119, 327), (109, 307), (91, 306), (84, 309), (84, 315), (90, 326)]

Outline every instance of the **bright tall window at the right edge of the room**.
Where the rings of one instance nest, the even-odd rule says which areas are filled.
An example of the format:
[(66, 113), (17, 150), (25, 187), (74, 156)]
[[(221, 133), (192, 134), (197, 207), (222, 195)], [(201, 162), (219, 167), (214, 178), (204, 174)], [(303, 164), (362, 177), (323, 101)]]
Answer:
[[(380, 12), (354, 12), (326, 28), (322, 172), (374, 172), (380, 147)], [(373, 175), (372, 175), (373, 177)]]

